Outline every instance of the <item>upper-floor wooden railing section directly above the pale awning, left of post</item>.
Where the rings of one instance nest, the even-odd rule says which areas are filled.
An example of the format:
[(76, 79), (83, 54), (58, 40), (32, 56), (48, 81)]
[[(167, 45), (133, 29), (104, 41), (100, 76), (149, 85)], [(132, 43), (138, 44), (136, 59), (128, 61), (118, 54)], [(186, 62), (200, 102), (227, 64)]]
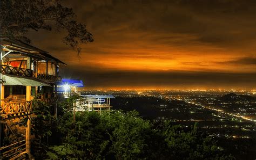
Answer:
[(31, 69), (17, 68), (6, 65), (1, 65), (2, 74), (32, 77), (33, 71)]

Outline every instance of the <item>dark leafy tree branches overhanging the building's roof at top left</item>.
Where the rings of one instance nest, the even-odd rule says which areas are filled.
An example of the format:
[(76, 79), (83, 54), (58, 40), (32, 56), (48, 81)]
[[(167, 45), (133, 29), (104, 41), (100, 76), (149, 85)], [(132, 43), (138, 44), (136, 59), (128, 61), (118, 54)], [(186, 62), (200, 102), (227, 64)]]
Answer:
[(92, 34), (84, 24), (75, 20), (72, 9), (61, 0), (1, 0), (0, 37), (18, 39), (30, 43), (26, 33), (30, 30), (65, 30), (63, 42), (80, 54), (80, 44), (92, 42)]

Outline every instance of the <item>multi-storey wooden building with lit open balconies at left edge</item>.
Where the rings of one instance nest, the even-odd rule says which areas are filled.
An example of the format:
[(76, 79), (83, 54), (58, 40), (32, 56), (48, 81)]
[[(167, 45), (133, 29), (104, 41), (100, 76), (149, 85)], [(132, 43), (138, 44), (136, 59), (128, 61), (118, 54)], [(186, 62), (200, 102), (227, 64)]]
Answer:
[[(17, 40), (0, 38), (0, 157), (6, 159), (30, 157), (30, 119), (32, 99), (41, 93), (41, 100), (54, 104), (57, 98), (58, 71), (62, 61)], [(56, 110), (55, 110), (56, 111)], [(2, 146), (4, 130), (15, 119), (27, 118), (24, 139)]]

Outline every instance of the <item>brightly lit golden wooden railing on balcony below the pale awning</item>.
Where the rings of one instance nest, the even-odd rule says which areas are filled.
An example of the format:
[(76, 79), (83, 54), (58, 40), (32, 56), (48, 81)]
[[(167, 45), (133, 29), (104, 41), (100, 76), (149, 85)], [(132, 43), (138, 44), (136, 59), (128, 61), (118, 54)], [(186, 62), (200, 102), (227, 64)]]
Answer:
[(32, 101), (2, 103), (0, 109), (1, 116), (29, 114), (32, 110)]

